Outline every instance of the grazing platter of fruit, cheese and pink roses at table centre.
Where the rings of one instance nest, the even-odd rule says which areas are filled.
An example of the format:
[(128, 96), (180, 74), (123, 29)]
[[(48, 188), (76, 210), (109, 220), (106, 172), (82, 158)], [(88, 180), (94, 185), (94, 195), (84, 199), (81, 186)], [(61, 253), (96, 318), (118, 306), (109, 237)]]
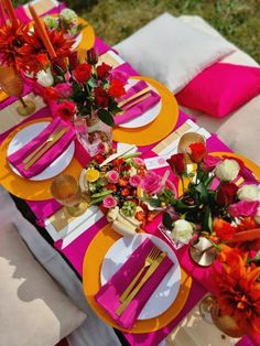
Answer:
[(148, 172), (139, 153), (102, 165), (108, 154), (105, 151), (106, 148), (100, 148), (100, 153), (88, 164), (82, 188), (90, 205), (98, 205), (107, 215), (115, 230), (136, 234), (166, 207), (175, 186), (166, 176), (162, 180)]

